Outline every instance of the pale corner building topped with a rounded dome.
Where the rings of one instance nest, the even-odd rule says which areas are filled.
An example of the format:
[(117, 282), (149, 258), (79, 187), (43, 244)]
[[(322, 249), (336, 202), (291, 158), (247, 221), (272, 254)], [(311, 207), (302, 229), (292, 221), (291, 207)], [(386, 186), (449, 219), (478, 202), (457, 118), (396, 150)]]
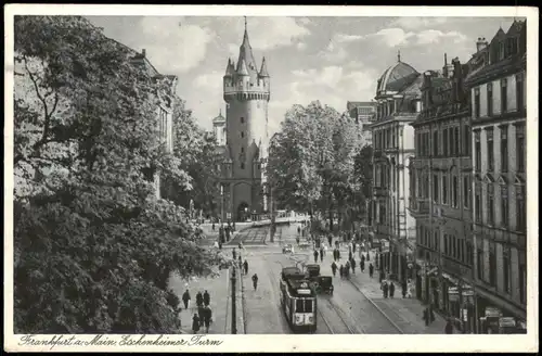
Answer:
[(415, 220), (406, 209), (409, 167), (414, 155), (414, 128), (421, 111), (423, 75), (401, 62), (378, 79), (373, 134), (373, 245), (380, 245), (380, 270), (391, 278), (412, 278)]

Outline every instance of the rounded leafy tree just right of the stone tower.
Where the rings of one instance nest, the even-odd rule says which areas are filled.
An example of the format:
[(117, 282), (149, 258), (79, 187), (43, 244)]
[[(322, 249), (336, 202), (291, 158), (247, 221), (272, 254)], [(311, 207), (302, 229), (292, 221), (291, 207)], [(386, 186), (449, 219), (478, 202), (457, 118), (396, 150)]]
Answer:
[(353, 217), (370, 185), (370, 176), (361, 176), (364, 145), (354, 122), (333, 107), (294, 105), (269, 150), (275, 201), (283, 208)]

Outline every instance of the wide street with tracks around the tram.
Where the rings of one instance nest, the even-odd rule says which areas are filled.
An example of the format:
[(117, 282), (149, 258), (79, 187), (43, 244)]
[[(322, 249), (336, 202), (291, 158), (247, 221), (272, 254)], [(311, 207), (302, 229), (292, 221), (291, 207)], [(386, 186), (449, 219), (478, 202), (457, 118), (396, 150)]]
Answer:
[[(250, 239), (258, 232), (243, 236)], [(312, 251), (294, 255), (282, 253), (281, 244), (295, 245), (296, 233), (297, 224), (293, 224), (278, 227), (278, 234), (282, 239), (275, 239), (273, 244), (249, 246), (243, 242), (246, 249), (242, 252), (242, 257), (246, 258), (249, 266), (248, 274), (243, 276), (246, 333), (292, 333), (280, 306), (279, 276), (282, 267), (295, 266), (296, 262), (313, 263)], [(347, 251), (343, 251), (340, 263), (346, 262), (347, 255)], [(323, 262), (319, 259), (318, 263), (321, 265), (321, 275), (332, 276), (330, 251)], [(258, 275), (256, 291), (250, 281), (254, 274)], [(384, 298), (377, 278), (371, 279), (367, 269), (361, 274), (358, 267), (356, 275), (350, 275), (349, 280), (335, 277), (333, 283), (333, 295), (318, 296), (317, 333), (443, 333), (442, 318), (439, 317), (431, 326), (425, 327), (422, 305), (416, 300), (403, 300), (399, 285), (396, 298)]]

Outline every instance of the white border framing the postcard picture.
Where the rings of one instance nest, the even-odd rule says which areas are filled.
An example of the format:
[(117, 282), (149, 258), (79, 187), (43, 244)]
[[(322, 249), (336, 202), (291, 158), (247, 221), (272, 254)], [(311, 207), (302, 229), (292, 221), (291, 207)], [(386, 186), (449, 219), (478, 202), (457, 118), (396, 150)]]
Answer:
[[(209, 335), (220, 346), (56, 346), (53, 352), (538, 352), (538, 55), (539, 11), (537, 8), (496, 7), (246, 7), (246, 5), (76, 5), (8, 4), (5, 33), (5, 120), (4, 120), (4, 349), (50, 351), (50, 347), (20, 346), (13, 334), (13, 16), (14, 15), (205, 15), (205, 16), (460, 16), (527, 17), (527, 190), (528, 213), (528, 320), (526, 335)], [(21, 336), (21, 335), (20, 335)], [(44, 339), (46, 335), (41, 336)], [(49, 335), (47, 338), (50, 339)], [(93, 335), (77, 335), (91, 340)], [(111, 340), (120, 336), (107, 335)], [(156, 335), (149, 338), (156, 338)], [(167, 335), (190, 340), (192, 335)]]

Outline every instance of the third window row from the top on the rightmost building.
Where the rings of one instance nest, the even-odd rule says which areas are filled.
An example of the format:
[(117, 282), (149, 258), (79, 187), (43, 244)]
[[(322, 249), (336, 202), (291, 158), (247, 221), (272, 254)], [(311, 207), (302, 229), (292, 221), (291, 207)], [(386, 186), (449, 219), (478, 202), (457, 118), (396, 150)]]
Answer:
[[(507, 185), (500, 185), (501, 227), (509, 228), (509, 203), (511, 196)], [(495, 226), (495, 185), (488, 183), (486, 189), (486, 221), (482, 221), (482, 192), (481, 183), (477, 182), (475, 188), (475, 223)], [(527, 227), (527, 203), (525, 185), (516, 186), (516, 230), (526, 231)]]

